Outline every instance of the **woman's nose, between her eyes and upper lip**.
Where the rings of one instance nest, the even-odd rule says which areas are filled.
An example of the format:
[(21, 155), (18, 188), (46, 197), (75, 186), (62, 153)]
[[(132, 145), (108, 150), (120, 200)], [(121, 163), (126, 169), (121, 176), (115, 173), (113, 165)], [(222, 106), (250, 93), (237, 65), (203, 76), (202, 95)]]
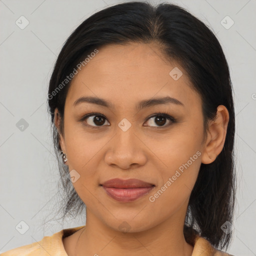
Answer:
[(116, 134), (109, 142), (105, 154), (105, 162), (108, 165), (131, 169), (146, 163), (146, 146), (132, 127), (126, 131), (117, 127)]

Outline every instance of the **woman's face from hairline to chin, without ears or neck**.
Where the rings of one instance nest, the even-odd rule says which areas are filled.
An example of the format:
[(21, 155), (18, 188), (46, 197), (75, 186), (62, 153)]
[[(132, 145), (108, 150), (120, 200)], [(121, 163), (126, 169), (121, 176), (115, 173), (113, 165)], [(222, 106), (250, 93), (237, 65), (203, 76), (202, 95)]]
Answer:
[[(74, 75), (65, 101), (60, 142), (73, 186), (86, 211), (115, 230), (142, 231), (170, 219), (183, 225), (205, 147), (200, 96), (155, 43), (98, 50)], [(109, 106), (77, 102), (81, 97)], [(150, 185), (102, 186), (113, 178)]]

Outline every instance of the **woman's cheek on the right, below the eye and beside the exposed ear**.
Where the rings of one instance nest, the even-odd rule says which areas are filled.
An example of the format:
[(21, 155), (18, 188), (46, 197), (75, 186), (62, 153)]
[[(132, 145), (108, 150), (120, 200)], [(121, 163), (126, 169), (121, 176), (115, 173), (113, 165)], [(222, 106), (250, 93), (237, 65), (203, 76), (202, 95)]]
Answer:
[[(158, 141), (154, 147), (155, 155), (159, 157), (162, 168), (158, 168), (161, 175), (159, 184), (160, 190), (164, 190), (164, 196), (168, 201), (174, 204), (178, 200), (184, 200), (189, 194), (196, 181), (201, 164), (201, 141), (202, 124), (188, 123), (180, 125), (173, 132)], [(167, 188), (166, 188), (167, 187)], [(166, 192), (165, 192), (166, 191)], [(160, 191), (161, 192), (161, 191)], [(157, 195), (156, 195), (157, 196)]]

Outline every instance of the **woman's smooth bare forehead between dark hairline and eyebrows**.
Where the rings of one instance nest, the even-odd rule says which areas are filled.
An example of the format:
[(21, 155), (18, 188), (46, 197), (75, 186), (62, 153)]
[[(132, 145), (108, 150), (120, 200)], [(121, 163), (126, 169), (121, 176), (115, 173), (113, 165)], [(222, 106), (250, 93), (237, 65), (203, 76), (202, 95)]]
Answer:
[[(173, 68), (182, 72), (176, 80), (170, 75)], [(73, 77), (67, 97), (74, 101), (88, 94), (113, 99), (116, 104), (156, 94), (176, 97), (181, 102), (198, 97), (185, 70), (175, 61), (168, 61), (156, 43), (110, 44), (98, 48), (98, 53)]]

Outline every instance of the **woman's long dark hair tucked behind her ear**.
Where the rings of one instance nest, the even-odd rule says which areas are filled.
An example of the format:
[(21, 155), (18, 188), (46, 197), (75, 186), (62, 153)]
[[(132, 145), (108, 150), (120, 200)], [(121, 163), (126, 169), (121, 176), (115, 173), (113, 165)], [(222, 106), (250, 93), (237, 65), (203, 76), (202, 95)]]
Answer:
[[(59, 162), (59, 134), (54, 125), (54, 109), (64, 116), (65, 98), (70, 81), (63, 84), (77, 63), (95, 48), (128, 42), (157, 42), (166, 59), (177, 61), (187, 72), (192, 88), (202, 99), (204, 135), (208, 121), (218, 105), (229, 113), (224, 146), (210, 164), (201, 164), (192, 189), (185, 218), (184, 234), (195, 230), (217, 248), (228, 247), (231, 232), (221, 225), (232, 224), (235, 200), (234, 107), (229, 68), (213, 32), (185, 9), (170, 3), (153, 6), (147, 2), (125, 2), (104, 8), (85, 19), (67, 38), (55, 62), (48, 88), (48, 111), (59, 163), (62, 185), (66, 191), (63, 218), (81, 212), (85, 206), (66, 177), (68, 168)], [(61, 89), (59, 85), (61, 84)], [(55, 91), (55, 93), (53, 93)], [(60, 133), (63, 132), (63, 121)], [(186, 236), (185, 236), (186, 238)], [(186, 238), (188, 239), (188, 237)]]

